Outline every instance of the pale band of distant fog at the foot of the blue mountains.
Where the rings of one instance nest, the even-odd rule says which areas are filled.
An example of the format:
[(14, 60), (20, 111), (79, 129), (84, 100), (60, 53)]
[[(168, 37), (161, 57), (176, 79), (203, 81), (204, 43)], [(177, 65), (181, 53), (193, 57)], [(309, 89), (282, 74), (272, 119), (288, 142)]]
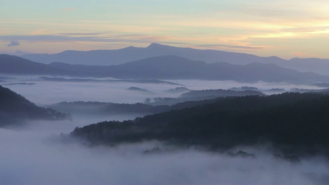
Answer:
[[(10, 88), (17, 94), (38, 105), (59, 103), (62, 101), (99, 101), (113, 103), (138, 103), (144, 102), (146, 98), (168, 97), (177, 98), (181, 93), (168, 93), (166, 90), (185, 87), (192, 90), (203, 89), (229, 89), (232, 87), (252, 86), (261, 90), (271, 88), (304, 88), (321, 89), (320, 87), (309, 85), (293, 85), (286, 83), (240, 83), (235, 81), (204, 81), (204, 80), (172, 80), (170, 82), (182, 85), (171, 84), (151, 84), (151, 83), (129, 83), (129, 82), (51, 82), (37, 80), (38, 77), (21, 76), (16, 77), (8, 83), (35, 83), (34, 85), (3, 85)], [(126, 90), (129, 87), (139, 87), (156, 93), (150, 95), (139, 91)]]

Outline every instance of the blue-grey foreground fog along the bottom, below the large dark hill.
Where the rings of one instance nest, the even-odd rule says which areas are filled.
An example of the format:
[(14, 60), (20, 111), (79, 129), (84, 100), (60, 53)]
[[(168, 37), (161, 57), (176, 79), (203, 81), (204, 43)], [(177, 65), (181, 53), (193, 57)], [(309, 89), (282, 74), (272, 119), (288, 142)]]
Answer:
[[(67, 122), (31, 122), (0, 129), (0, 184), (327, 184), (328, 162), (272, 160), (260, 147), (240, 147), (257, 158), (178, 149), (160, 142), (86, 147), (51, 139)], [(38, 126), (36, 126), (38, 125)], [(57, 125), (57, 126), (54, 126)], [(64, 129), (64, 130), (65, 130)], [(144, 154), (159, 146), (163, 152)], [(168, 151), (166, 151), (168, 150)]]

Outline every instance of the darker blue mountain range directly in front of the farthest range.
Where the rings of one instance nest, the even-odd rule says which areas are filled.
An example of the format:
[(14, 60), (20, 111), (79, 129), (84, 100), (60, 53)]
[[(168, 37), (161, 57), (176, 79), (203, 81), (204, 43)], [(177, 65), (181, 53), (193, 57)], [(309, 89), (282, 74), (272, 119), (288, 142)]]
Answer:
[(10, 55), (0, 55), (0, 72), (16, 75), (53, 75), (71, 77), (112, 77), (116, 79), (202, 79), (239, 82), (286, 82), (314, 84), (329, 82), (329, 76), (299, 72), (275, 64), (207, 64), (176, 55), (152, 57), (120, 65), (90, 66), (66, 63), (41, 64)]

